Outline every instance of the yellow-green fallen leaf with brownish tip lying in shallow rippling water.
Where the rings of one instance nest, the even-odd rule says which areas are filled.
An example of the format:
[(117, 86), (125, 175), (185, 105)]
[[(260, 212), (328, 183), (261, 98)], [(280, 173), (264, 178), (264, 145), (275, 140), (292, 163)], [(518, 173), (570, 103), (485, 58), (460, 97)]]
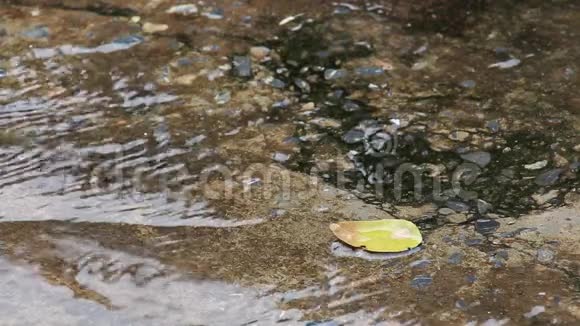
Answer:
[(340, 222), (330, 230), (348, 245), (372, 252), (401, 252), (423, 242), (417, 226), (406, 220)]

